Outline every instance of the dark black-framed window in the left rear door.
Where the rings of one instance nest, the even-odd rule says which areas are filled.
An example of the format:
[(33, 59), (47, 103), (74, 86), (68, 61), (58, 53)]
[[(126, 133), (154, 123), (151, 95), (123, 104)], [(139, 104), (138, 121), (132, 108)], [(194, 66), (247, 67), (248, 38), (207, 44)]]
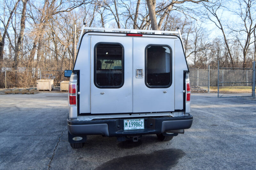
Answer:
[(99, 88), (120, 88), (124, 84), (124, 49), (120, 44), (95, 45), (94, 84)]

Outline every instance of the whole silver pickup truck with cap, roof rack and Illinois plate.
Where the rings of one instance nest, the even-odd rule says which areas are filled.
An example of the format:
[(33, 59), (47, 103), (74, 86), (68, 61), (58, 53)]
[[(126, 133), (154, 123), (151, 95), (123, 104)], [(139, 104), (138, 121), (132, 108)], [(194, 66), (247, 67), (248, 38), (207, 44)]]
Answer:
[(83, 147), (87, 135), (138, 141), (156, 134), (168, 141), (191, 127), (189, 70), (179, 29), (84, 29), (73, 70), (65, 70), (73, 148)]

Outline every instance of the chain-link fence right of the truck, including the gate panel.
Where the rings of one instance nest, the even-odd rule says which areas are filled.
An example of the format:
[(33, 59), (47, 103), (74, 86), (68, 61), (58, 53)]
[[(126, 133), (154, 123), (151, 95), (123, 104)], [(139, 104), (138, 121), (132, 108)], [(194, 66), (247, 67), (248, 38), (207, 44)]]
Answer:
[[(255, 63), (254, 63), (255, 65)], [(255, 68), (255, 66), (254, 66)], [(254, 69), (255, 70), (255, 69)], [(255, 71), (247, 69), (189, 68), (192, 92), (216, 92), (218, 97), (251, 97), (255, 95)], [(254, 80), (253, 80), (254, 78)], [(254, 85), (253, 85), (254, 82)]]

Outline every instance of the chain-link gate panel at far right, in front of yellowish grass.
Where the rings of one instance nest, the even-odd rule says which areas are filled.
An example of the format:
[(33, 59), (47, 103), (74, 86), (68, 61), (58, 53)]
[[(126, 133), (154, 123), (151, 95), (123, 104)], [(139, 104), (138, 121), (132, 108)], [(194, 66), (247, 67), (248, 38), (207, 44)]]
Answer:
[(253, 68), (221, 68), (218, 63), (218, 98), (254, 96), (255, 62)]

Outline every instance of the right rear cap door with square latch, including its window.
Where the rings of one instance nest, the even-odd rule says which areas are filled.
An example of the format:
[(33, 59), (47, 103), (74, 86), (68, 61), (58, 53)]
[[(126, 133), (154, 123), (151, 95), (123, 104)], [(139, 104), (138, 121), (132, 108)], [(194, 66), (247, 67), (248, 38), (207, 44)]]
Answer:
[(174, 41), (133, 37), (133, 113), (174, 111)]

